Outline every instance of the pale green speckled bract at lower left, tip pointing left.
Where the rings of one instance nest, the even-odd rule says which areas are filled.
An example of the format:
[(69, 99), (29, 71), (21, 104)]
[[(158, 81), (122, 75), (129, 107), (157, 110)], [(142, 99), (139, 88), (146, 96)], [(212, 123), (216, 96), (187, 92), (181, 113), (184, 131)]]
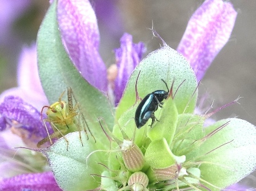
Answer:
[(101, 175), (105, 169), (98, 162), (106, 163), (105, 157), (102, 157), (106, 153), (94, 151), (105, 149), (106, 145), (101, 141), (94, 143), (91, 139), (87, 140), (84, 132), (81, 132), (81, 136), (83, 146), (79, 133), (74, 132), (65, 136), (69, 141), (68, 146), (67, 141), (62, 137), (51, 147), (42, 151), (49, 161), (57, 184), (65, 191), (97, 188), (101, 178), (91, 174)]

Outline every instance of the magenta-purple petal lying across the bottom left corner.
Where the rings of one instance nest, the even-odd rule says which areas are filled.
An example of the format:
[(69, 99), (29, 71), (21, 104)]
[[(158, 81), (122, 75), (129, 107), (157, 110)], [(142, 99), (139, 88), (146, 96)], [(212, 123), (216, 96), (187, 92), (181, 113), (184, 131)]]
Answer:
[(0, 179), (0, 190), (61, 191), (52, 172), (21, 174), (11, 178), (2, 178)]

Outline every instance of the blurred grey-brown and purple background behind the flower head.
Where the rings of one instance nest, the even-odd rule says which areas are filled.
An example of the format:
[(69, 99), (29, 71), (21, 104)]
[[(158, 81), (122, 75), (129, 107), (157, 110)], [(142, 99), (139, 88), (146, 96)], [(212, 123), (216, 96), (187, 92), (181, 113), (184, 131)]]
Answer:
[[(147, 53), (159, 48), (152, 27), (170, 47), (176, 48), (189, 18), (202, 0), (91, 1), (101, 34), (100, 53), (107, 66), (115, 63), (114, 48), (119, 47), (123, 32), (133, 35), (134, 43), (146, 44)], [(207, 97), (206, 110), (234, 101), (216, 113), (214, 119), (239, 117), (256, 124), (256, 1), (231, 0), (238, 11), (229, 42), (217, 55), (199, 86), (199, 95)], [(17, 64), (23, 46), (35, 42), (49, 1), (0, 0), (0, 92), (17, 86)], [(256, 151), (255, 151), (256, 152)], [(239, 156), (238, 156), (239, 157)], [(256, 173), (242, 181), (256, 188)]]

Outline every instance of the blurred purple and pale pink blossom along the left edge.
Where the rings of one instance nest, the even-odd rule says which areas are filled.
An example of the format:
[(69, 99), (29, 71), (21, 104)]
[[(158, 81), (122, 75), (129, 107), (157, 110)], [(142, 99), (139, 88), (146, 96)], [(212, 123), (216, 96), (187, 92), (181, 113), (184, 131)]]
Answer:
[[(6, 90), (0, 96), (0, 131), (2, 131), (0, 178), (9, 178), (20, 173), (41, 172), (47, 166), (45, 157), (40, 153), (13, 149), (14, 147), (36, 148), (38, 141), (47, 135), (39, 111), (43, 105), (48, 104), (39, 80), (35, 44), (24, 47), (21, 52), (18, 63), (18, 84), (18, 87)], [(43, 114), (43, 117), (46, 115)], [(49, 129), (49, 131), (53, 130)], [(0, 187), (3, 187), (0, 190), (10, 190), (8, 184), (11, 181), (21, 181), (23, 179), (20, 178), (25, 177), (26, 175), (14, 177), (10, 181), (2, 179)]]

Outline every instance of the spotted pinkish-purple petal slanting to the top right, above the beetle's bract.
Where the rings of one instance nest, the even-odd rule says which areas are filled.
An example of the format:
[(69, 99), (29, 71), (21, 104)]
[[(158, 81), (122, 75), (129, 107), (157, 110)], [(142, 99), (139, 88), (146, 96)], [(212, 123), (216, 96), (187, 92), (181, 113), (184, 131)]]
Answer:
[(236, 17), (230, 2), (206, 0), (190, 18), (177, 51), (189, 61), (198, 81), (229, 40)]

